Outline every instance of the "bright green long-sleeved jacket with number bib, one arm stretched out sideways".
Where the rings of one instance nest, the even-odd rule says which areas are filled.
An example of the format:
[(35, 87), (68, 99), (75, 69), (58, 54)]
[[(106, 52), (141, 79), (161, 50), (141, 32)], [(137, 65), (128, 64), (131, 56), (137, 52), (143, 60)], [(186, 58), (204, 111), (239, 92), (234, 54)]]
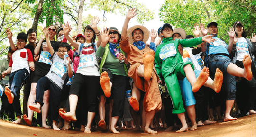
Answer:
[(164, 38), (155, 52), (155, 69), (159, 78), (160, 75), (165, 78), (174, 71), (177, 64), (183, 64), (182, 56), (178, 51), (179, 44), (183, 47), (193, 47), (201, 43), (202, 37), (175, 40), (172, 37)]

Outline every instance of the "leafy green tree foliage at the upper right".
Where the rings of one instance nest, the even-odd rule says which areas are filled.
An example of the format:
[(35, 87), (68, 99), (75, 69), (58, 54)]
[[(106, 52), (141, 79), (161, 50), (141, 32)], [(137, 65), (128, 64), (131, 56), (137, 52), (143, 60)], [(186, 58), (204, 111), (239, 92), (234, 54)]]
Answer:
[[(218, 23), (218, 37), (229, 41), (227, 31), (235, 21), (241, 21), (247, 35), (255, 32), (255, 0), (165, 0), (160, 10), (161, 20), (183, 28), (192, 34), (194, 23)], [(206, 10), (209, 12), (210, 18)]]

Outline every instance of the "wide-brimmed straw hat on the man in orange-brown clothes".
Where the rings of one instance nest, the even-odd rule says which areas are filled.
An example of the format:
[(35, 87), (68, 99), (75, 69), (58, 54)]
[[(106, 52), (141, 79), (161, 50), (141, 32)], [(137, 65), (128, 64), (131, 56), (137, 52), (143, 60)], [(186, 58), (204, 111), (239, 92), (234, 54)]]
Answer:
[(148, 38), (149, 38), (149, 30), (146, 28), (146, 27), (144, 27), (144, 26), (141, 26), (141, 25), (135, 25), (135, 26), (133, 26), (133, 27), (130, 27), (128, 30), (127, 30), (127, 36), (128, 36), (128, 38), (129, 38), (129, 42), (132, 44), (133, 42), (135, 42), (134, 40), (133, 40), (133, 38), (132, 38), (132, 32), (135, 30), (135, 29), (137, 29), (137, 28), (139, 28), (139, 29), (141, 29), (142, 31), (143, 31), (143, 33), (144, 33), (144, 35), (143, 35), (143, 42), (144, 43), (146, 43), (146, 41), (148, 40)]

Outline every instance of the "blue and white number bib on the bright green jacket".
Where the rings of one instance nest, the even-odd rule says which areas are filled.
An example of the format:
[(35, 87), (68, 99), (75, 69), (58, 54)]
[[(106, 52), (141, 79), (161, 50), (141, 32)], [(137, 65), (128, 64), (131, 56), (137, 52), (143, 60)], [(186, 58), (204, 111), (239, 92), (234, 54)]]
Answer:
[(167, 44), (167, 45), (163, 46), (160, 49), (159, 57), (162, 60), (165, 60), (166, 58), (168, 58), (170, 56), (175, 56), (176, 54), (177, 54), (177, 51), (176, 51), (176, 48), (175, 48), (174, 44), (170, 43), (170, 44)]

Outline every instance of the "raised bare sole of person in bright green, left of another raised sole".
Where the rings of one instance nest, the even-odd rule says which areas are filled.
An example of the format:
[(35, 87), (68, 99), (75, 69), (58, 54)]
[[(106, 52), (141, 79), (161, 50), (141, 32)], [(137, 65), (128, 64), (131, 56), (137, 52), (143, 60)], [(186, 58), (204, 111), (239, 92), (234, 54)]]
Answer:
[(209, 77), (209, 68), (204, 67), (193, 85), (192, 91), (197, 92)]

